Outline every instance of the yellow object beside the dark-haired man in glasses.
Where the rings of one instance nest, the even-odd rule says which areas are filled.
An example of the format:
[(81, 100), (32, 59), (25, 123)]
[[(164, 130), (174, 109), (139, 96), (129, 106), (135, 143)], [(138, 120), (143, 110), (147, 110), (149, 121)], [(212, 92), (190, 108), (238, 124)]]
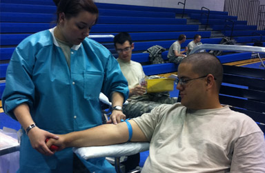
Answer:
[(146, 79), (147, 92), (166, 92), (174, 90), (174, 81), (172, 78)]

